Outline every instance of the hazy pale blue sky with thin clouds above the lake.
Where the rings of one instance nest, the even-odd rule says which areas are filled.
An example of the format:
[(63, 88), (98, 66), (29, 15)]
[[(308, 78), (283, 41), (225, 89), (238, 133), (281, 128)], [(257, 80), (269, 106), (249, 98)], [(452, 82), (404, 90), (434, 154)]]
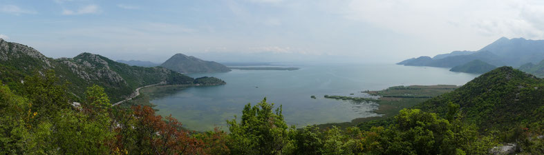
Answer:
[(393, 63), (544, 38), (531, 0), (0, 0), (0, 38), (46, 56)]

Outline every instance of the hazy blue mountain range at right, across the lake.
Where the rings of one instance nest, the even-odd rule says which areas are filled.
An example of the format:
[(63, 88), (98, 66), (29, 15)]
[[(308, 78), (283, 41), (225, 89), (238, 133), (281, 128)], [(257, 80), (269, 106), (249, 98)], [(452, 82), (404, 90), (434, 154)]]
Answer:
[(433, 58), (420, 56), (406, 59), (397, 64), (453, 68), (474, 60), (480, 60), (490, 65), (509, 65), (517, 68), (525, 63), (538, 63), (543, 59), (544, 40), (507, 39), (502, 37), (478, 51), (453, 51), (449, 54), (438, 54)]

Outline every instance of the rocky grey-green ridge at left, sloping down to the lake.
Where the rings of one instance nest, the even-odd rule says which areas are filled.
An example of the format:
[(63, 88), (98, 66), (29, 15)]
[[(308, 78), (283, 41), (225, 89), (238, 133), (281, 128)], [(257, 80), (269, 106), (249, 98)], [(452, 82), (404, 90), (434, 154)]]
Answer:
[(74, 58), (52, 59), (34, 48), (0, 39), (0, 80), (17, 90), (24, 77), (53, 70), (62, 81), (68, 81), (68, 90), (75, 100), (81, 99), (86, 87), (93, 84), (104, 87), (111, 101), (121, 101), (137, 87), (165, 82), (192, 84), (194, 79), (162, 67), (144, 68), (126, 65), (91, 53)]

